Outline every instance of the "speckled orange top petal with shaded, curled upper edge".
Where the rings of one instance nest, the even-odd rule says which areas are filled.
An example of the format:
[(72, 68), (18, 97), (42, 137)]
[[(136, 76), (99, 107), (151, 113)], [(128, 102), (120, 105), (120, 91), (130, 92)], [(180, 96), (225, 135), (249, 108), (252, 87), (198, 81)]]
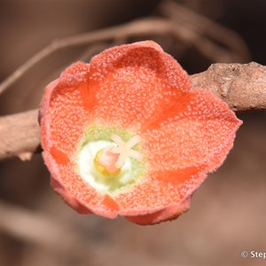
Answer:
[(191, 82), (175, 59), (148, 41), (113, 47), (91, 59), (89, 87), (98, 122), (137, 128), (174, 104)]

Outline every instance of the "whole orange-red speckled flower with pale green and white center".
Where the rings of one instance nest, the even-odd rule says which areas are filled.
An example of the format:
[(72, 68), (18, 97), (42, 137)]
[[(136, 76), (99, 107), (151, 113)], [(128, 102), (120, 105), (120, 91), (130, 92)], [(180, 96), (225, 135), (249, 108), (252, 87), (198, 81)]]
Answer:
[(191, 88), (176, 60), (150, 41), (66, 68), (40, 110), (55, 191), (80, 213), (133, 223), (184, 213), (241, 124), (211, 92)]

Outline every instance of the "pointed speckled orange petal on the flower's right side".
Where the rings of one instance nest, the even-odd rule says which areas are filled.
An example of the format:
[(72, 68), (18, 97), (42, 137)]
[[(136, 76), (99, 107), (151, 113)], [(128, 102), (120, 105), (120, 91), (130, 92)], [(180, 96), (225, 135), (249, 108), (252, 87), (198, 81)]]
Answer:
[(204, 172), (212, 171), (229, 153), (240, 124), (211, 92), (193, 90), (149, 124), (142, 149), (153, 170), (204, 165)]

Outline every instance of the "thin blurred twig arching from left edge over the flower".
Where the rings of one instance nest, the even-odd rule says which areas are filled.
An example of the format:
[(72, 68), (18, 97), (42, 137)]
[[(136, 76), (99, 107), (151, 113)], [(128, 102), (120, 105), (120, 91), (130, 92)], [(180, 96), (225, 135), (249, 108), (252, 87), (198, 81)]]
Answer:
[[(166, 5), (165, 8), (167, 7), (168, 6)], [(170, 10), (172, 11), (182, 8), (181, 13), (189, 12), (184, 7), (177, 7), (177, 9), (173, 8), (171, 4), (169, 6)], [(195, 17), (193, 12), (189, 12), (188, 14), (192, 18)], [(212, 58), (212, 61), (216, 62), (231, 61), (235, 59), (237, 59), (238, 62), (243, 62), (243, 59), (249, 58), (246, 44), (239, 38), (238, 35), (232, 33), (230, 30), (222, 26), (217, 26), (213, 22), (201, 18), (200, 15), (196, 16), (196, 25), (201, 25), (203, 23), (207, 29), (214, 27), (213, 31), (216, 33), (216, 35), (220, 36), (223, 34), (223, 36), (220, 36), (220, 38), (215, 36), (215, 39), (218, 39), (219, 43), (223, 43), (224, 48), (221, 49), (221, 44), (217, 45), (213, 41), (209, 40), (209, 38), (204, 37), (201, 32), (198, 33), (197, 30), (185, 26), (187, 23), (182, 23), (182, 21), (186, 22), (184, 19), (180, 19), (181, 21), (178, 20), (175, 22), (171, 17), (172, 14), (169, 15), (169, 19), (148, 18), (135, 20), (116, 27), (108, 27), (83, 35), (74, 35), (63, 39), (54, 40), (50, 45), (46, 46), (42, 51), (36, 53), (35, 56), (28, 59), (22, 66), (8, 76), (4, 82), (0, 84), (0, 94), (5, 90), (8, 90), (12, 84), (18, 82), (20, 77), (26, 74), (38, 63), (43, 61), (43, 59), (51, 56), (51, 54), (57, 51), (84, 45), (88, 46), (98, 42), (112, 41), (113, 43), (124, 43), (121, 42), (121, 40), (126, 41), (132, 36), (140, 37), (146, 35), (170, 35), (176, 40), (176, 43), (178, 43), (179, 46), (180, 43), (194, 45), (199, 51), (201, 51), (203, 55), (205, 55), (207, 58)], [(174, 17), (176, 18), (176, 15)], [(177, 17), (181, 18), (179, 13)], [(182, 18), (183, 17), (186, 18), (187, 16), (182, 16)], [(217, 34), (218, 32), (220, 34)], [(224, 38), (224, 35), (227, 37)], [(211, 39), (214, 38), (213, 35), (211, 35), (211, 37)], [(228, 43), (227, 40), (231, 40), (231, 42)], [(231, 43), (234, 43), (234, 45), (231, 45)]]

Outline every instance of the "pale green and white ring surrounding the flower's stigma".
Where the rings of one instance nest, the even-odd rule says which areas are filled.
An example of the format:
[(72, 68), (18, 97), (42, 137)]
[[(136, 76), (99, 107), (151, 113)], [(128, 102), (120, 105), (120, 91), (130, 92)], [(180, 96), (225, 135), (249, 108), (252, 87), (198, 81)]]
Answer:
[[(98, 156), (98, 152), (106, 146), (115, 146), (111, 140), (113, 134), (121, 137), (124, 142), (128, 142), (129, 139), (136, 136), (136, 133), (130, 129), (93, 125), (85, 130), (75, 157), (76, 171), (85, 182), (88, 182), (98, 192), (109, 194), (120, 193), (128, 189), (140, 181), (145, 172), (145, 159), (137, 161), (133, 158), (127, 158), (120, 172), (113, 175), (112, 178), (106, 178), (105, 171), (99, 170), (95, 164), (95, 158)], [(132, 149), (144, 156), (141, 151), (141, 143)]]

